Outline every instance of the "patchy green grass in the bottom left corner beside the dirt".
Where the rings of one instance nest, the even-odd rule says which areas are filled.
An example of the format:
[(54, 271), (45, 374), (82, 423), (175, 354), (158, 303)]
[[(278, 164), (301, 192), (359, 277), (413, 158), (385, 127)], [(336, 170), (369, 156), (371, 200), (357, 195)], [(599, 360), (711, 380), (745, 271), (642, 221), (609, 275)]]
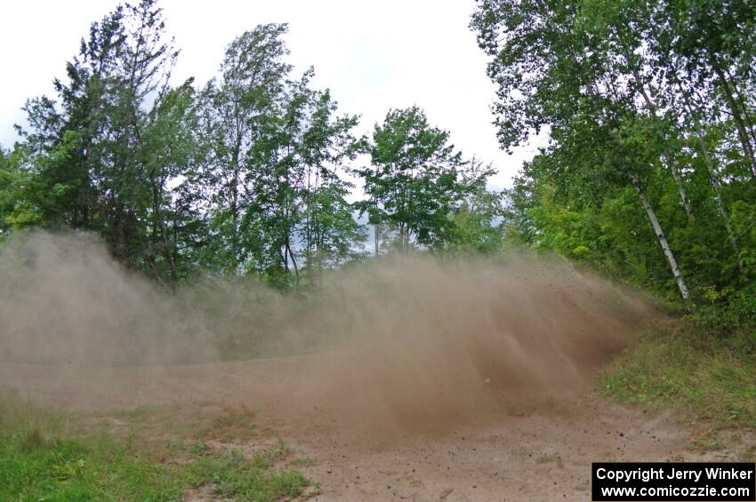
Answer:
[[(205, 487), (224, 500), (273, 501), (298, 497), (310, 486), (304, 475), (278, 468), (291, 454), (281, 440), (251, 455), (186, 437), (149, 441), (145, 434), (155, 434), (153, 422), (159, 424), (162, 413), (134, 410), (135, 430), (119, 434), (104, 422), (92, 428), (84, 418), (0, 390), (0, 500), (181, 500)], [(246, 431), (240, 422), (250, 415), (240, 410), (218, 417), (214, 425), (225, 423), (237, 434), (239, 427)]]

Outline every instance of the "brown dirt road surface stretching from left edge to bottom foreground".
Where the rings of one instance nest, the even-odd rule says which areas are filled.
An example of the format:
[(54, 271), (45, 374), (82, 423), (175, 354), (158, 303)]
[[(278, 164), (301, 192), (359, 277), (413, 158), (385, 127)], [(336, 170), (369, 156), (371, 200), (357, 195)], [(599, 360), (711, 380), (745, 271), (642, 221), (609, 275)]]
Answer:
[(512, 397), (484, 381), (488, 395), (461, 396), (462, 408), (420, 395), (413, 407), (365, 394), (347, 369), (354, 361), (341, 352), (121, 369), (2, 364), (0, 382), (77, 411), (244, 404), (310, 459), (302, 470), (321, 484), (318, 500), (584, 501), (591, 461), (727, 457), (686, 450), (691, 433), (675, 418), (607, 402), (587, 384)]

